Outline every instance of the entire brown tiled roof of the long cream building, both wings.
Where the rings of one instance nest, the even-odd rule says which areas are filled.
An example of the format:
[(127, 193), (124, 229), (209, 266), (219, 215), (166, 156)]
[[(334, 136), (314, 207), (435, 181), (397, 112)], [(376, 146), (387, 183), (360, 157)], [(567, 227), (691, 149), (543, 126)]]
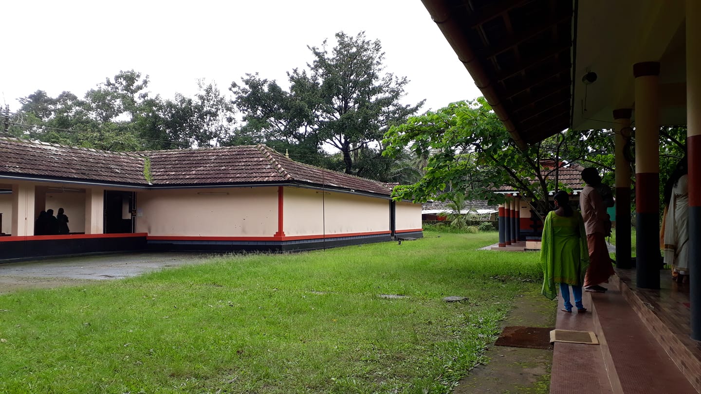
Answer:
[(297, 163), (264, 145), (116, 153), (0, 137), (0, 177), (34, 175), (146, 185), (147, 158), (151, 184), (156, 187), (289, 182), (391, 194), (391, 187), (381, 182)]

